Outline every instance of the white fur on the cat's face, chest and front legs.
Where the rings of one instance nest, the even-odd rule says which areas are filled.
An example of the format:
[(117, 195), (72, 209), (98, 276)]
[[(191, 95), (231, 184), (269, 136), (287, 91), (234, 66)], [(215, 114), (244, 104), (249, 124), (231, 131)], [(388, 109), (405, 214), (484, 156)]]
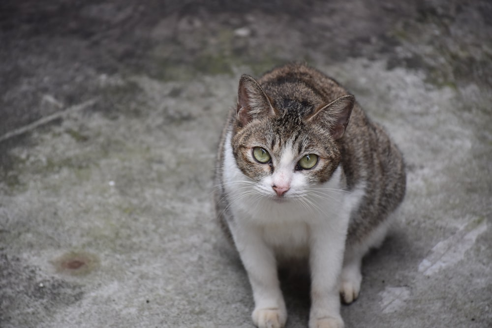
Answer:
[[(342, 191), (345, 181), (338, 167), (329, 181), (309, 188), (304, 174), (294, 170), (299, 159), (289, 151), (274, 162), (271, 176), (256, 183), (237, 167), (230, 140), (231, 133), (225, 141), (222, 178), (233, 217), (231, 232), (253, 290), (253, 322), (260, 328), (283, 327), (287, 313), (277, 258), (308, 255), (312, 280), (309, 327), (343, 327), (339, 275), (350, 214), (358, 207), (364, 186), (351, 193)], [(290, 190), (276, 197), (274, 184), (288, 185)]]

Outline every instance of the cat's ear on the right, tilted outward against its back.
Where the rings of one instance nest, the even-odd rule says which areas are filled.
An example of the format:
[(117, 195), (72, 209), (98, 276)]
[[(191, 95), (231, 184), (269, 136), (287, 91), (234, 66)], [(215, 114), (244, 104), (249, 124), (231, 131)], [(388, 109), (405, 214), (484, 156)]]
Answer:
[(328, 105), (320, 107), (307, 120), (318, 122), (330, 130), (333, 139), (340, 139), (345, 133), (354, 104), (355, 97), (353, 95), (341, 96)]

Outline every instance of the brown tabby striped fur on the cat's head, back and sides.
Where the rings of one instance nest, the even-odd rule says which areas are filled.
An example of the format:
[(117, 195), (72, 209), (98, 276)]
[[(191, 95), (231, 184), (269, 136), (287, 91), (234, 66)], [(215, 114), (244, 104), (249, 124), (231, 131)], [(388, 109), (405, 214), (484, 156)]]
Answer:
[[(243, 76), (242, 81), (247, 78), (250, 77)], [(361, 242), (398, 207), (404, 197), (406, 178), (400, 150), (384, 129), (367, 117), (357, 102), (349, 113), (345, 133), (339, 139), (334, 138), (336, 131), (331, 130), (334, 119), (330, 113), (324, 114), (324, 121), (311, 122), (310, 118), (318, 111), (348, 92), (333, 79), (307, 65), (287, 64), (266, 73), (257, 82), (268, 101), (262, 101), (261, 96), (253, 99), (258, 103), (258, 110), (251, 111), (248, 117), (236, 109), (231, 110), (219, 146), (215, 204), (224, 231), (230, 237), (227, 222), (234, 224), (227, 209), (227, 195), (221, 187), (221, 170), (227, 170), (223, 167), (227, 132), (233, 132), (232, 148), (239, 168), (251, 179), (270, 174), (268, 170), (271, 168), (251, 163), (244, 151), (252, 144), (263, 143), (281, 152), (282, 141), (295, 134), (299, 152), (315, 149), (313, 153), (325, 159), (323, 165), (318, 165), (320, 168), (307, 172), (311, 183), (330, 179), (338, 165), (343, 168), (347, 191), (365, 181), (366, 193), (358, 210), (351, 215), (346, 243)], [(271, 106), (272, 109), (262, 109), (262, 106)]]

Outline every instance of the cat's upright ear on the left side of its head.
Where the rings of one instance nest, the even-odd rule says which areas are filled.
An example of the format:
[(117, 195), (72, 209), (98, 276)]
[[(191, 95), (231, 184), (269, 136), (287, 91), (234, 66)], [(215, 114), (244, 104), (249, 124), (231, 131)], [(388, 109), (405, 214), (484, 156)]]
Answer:
[(239, 80), (237, 117), (242, 126), (252, 119), (274, 116), (275, 109), (267, 94), (251, 76), (244, 74)]

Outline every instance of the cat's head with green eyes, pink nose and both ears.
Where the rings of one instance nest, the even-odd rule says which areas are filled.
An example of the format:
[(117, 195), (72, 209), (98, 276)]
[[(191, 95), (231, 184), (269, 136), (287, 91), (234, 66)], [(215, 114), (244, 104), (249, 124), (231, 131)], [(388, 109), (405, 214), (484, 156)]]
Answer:
[(301, 197), (337, 169), (339, 140), (355, 99), (344, 95), (320, 105), (308, 97), (292, 98), (273, 89), (270, 93), (274, 94), (267, 94), (251, 76), (242, 76), (232, 137), (234, 157), (261, 194), (277, 200)]

